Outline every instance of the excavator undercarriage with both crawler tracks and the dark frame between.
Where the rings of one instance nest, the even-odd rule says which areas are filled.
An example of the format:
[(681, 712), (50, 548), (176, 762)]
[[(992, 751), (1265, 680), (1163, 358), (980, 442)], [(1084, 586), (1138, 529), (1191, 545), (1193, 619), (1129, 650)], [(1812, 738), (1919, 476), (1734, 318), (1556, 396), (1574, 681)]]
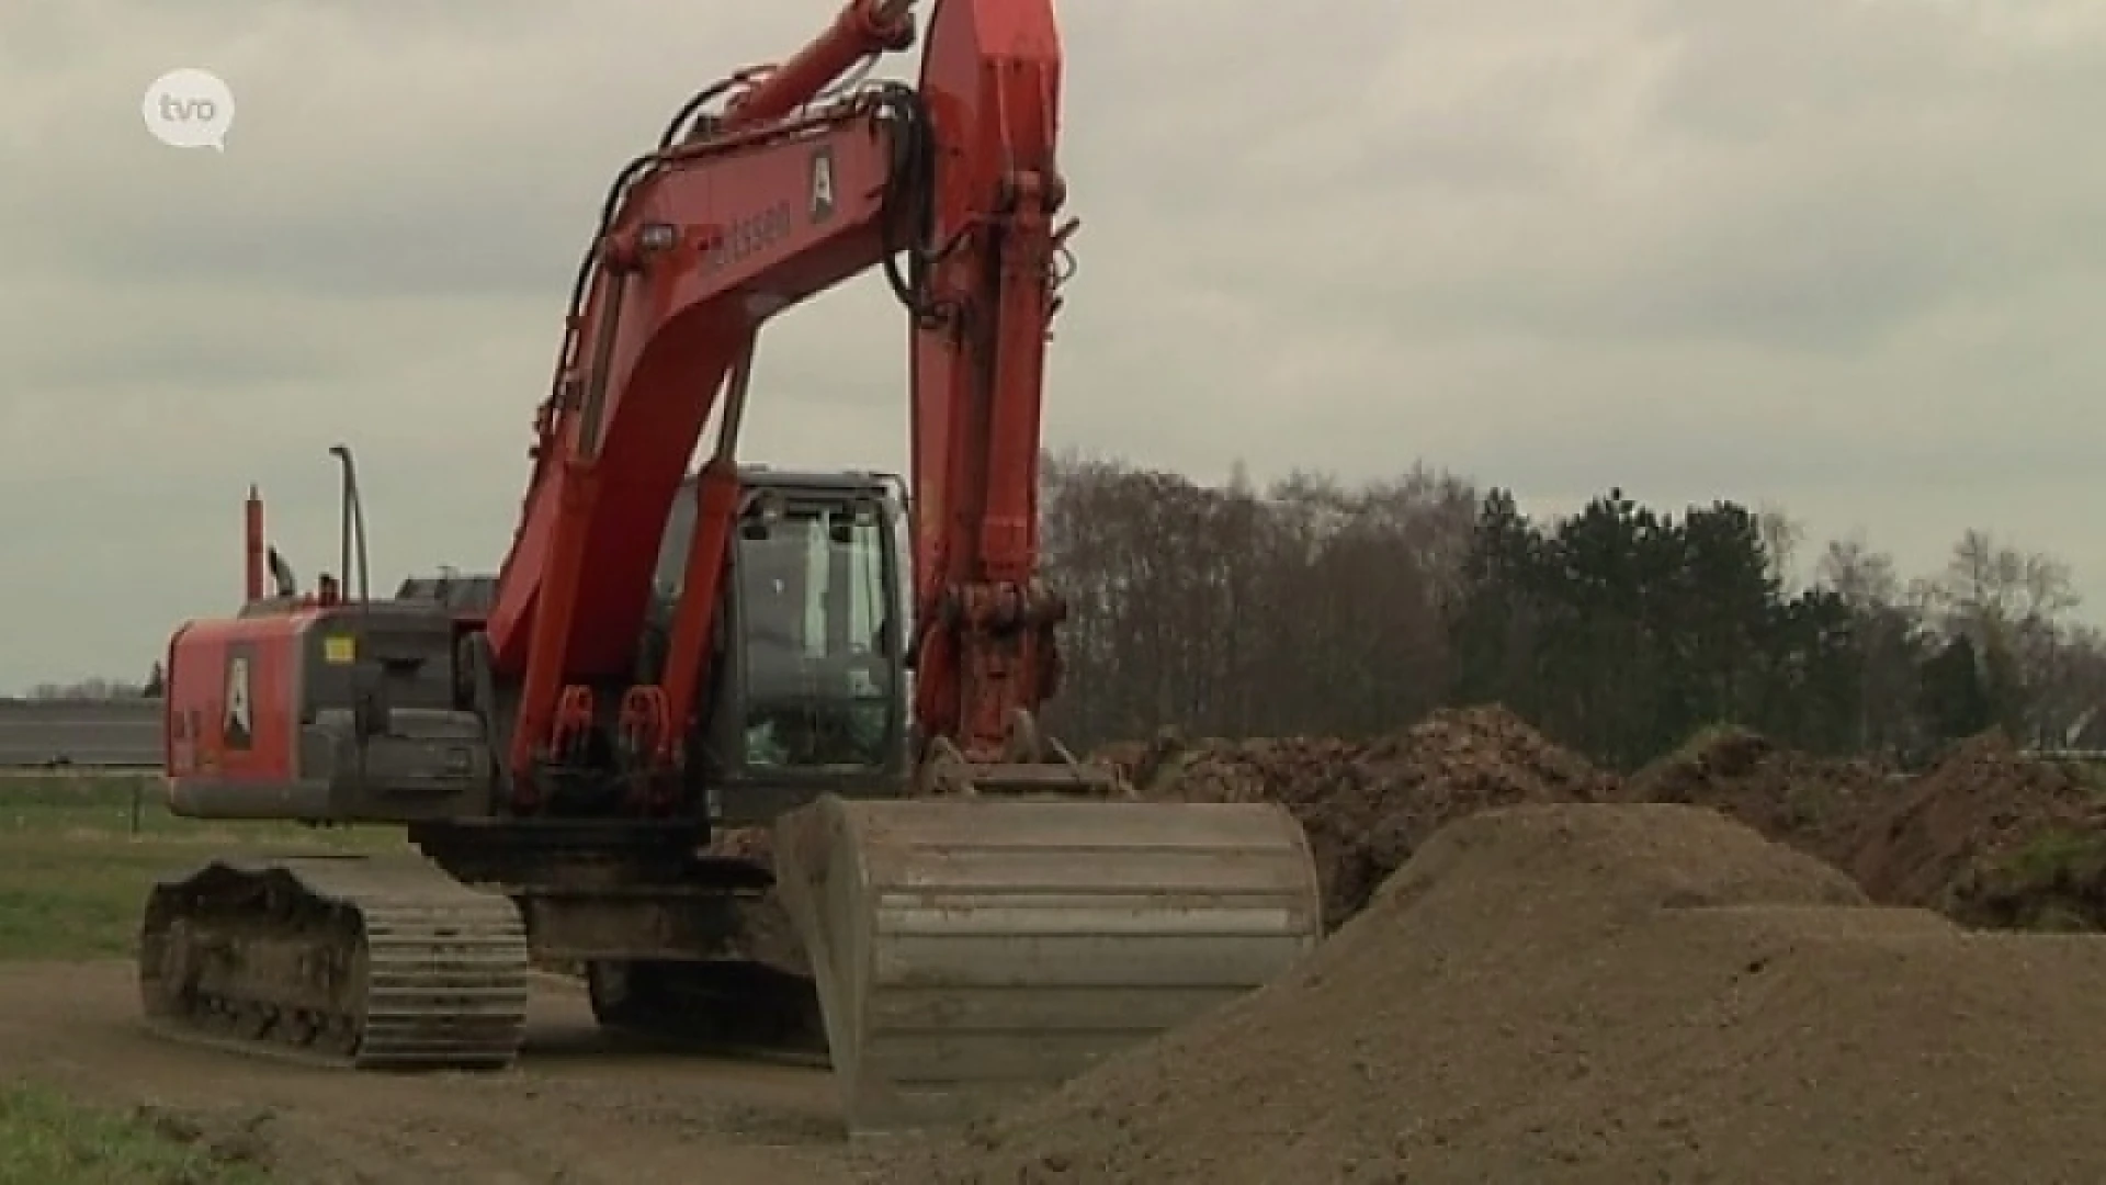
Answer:
[[(514, 1058), (531, 968), (630, 1035), (826, 1061), (764, 843), (607, 827), (413, 827), (423, 852), (215, 860), (156, 886), (139, 983), (187, 1040), (354, 1067)], [(735, 852), (735, 854), (733, 854)]]

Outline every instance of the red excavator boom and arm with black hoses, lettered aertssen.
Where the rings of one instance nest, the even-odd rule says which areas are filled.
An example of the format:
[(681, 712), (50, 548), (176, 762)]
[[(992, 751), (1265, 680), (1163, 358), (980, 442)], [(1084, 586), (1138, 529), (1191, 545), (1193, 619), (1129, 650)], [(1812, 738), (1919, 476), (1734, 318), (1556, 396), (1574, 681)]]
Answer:
[(729, 103), (676, 120), (609, 194), (486, 624), (493, 673), (520, 687), (505, 738), (518, 810), (583, 738), (594, 689), (632, 668), (659, 531), (716, 413), (663, 679), (628, 687), (619, 713), (630, 774), (676, 776), (758, 329), (870, 268), (910, 312), (916, 734), (967, 761), (1038, 753), (1030, 719), (1055, 685), (1064, 611), (1034, 578), (1038, 386), (1066, 238), (1059, 36), (1045, 0), (943, 0), (918, 86), (828, 99), (842, 72), (912, 44), (912, 8), (851, 2), (783, 65), (706, 93)]

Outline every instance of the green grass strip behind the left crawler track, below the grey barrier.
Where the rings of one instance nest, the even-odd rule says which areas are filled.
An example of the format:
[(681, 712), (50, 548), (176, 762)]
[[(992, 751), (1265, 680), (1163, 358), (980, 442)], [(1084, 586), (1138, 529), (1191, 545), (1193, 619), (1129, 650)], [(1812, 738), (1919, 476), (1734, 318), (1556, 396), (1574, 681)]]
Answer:
[(0, 959), (128, 957), (147, 888), (219, 852), (377, 850), (400, 835), (177, 818), (158, 778), (0, 776)]

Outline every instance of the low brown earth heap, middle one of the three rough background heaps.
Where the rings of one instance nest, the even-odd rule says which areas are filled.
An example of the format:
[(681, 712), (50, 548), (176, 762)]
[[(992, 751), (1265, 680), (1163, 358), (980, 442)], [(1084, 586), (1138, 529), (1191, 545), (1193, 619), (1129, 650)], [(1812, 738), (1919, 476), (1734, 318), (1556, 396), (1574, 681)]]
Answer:
[(1898, 789), (1872, 761), (1813, 757), (1725, 727), (1632, 774), (1624, 797), (1708, 805), (1769, 839), (1847, 867), (1866, 816), (1887, 808)]

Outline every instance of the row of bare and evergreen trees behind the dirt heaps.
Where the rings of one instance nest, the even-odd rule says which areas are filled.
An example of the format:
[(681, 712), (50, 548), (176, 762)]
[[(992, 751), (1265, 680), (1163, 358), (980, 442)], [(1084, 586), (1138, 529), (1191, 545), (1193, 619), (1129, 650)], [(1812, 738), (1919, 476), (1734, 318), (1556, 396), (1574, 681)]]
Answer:
[(1537, 521), (1426, 466), (1257, 489), (1080, 453), (1047, 458), (1040, 523), (1072, 605), (1047, 723), (1074, 746), (1369, 736), (1478, 702), (1622, 770), (1721, 723), (1902, 763), (2106, 725), (2106, 637), (2072, 618), (2068, 565), (1982, 529), (1916, 578), (1832, 540), (1801, 582), (1805, 531), (1775, 508), (1609, 489)]

